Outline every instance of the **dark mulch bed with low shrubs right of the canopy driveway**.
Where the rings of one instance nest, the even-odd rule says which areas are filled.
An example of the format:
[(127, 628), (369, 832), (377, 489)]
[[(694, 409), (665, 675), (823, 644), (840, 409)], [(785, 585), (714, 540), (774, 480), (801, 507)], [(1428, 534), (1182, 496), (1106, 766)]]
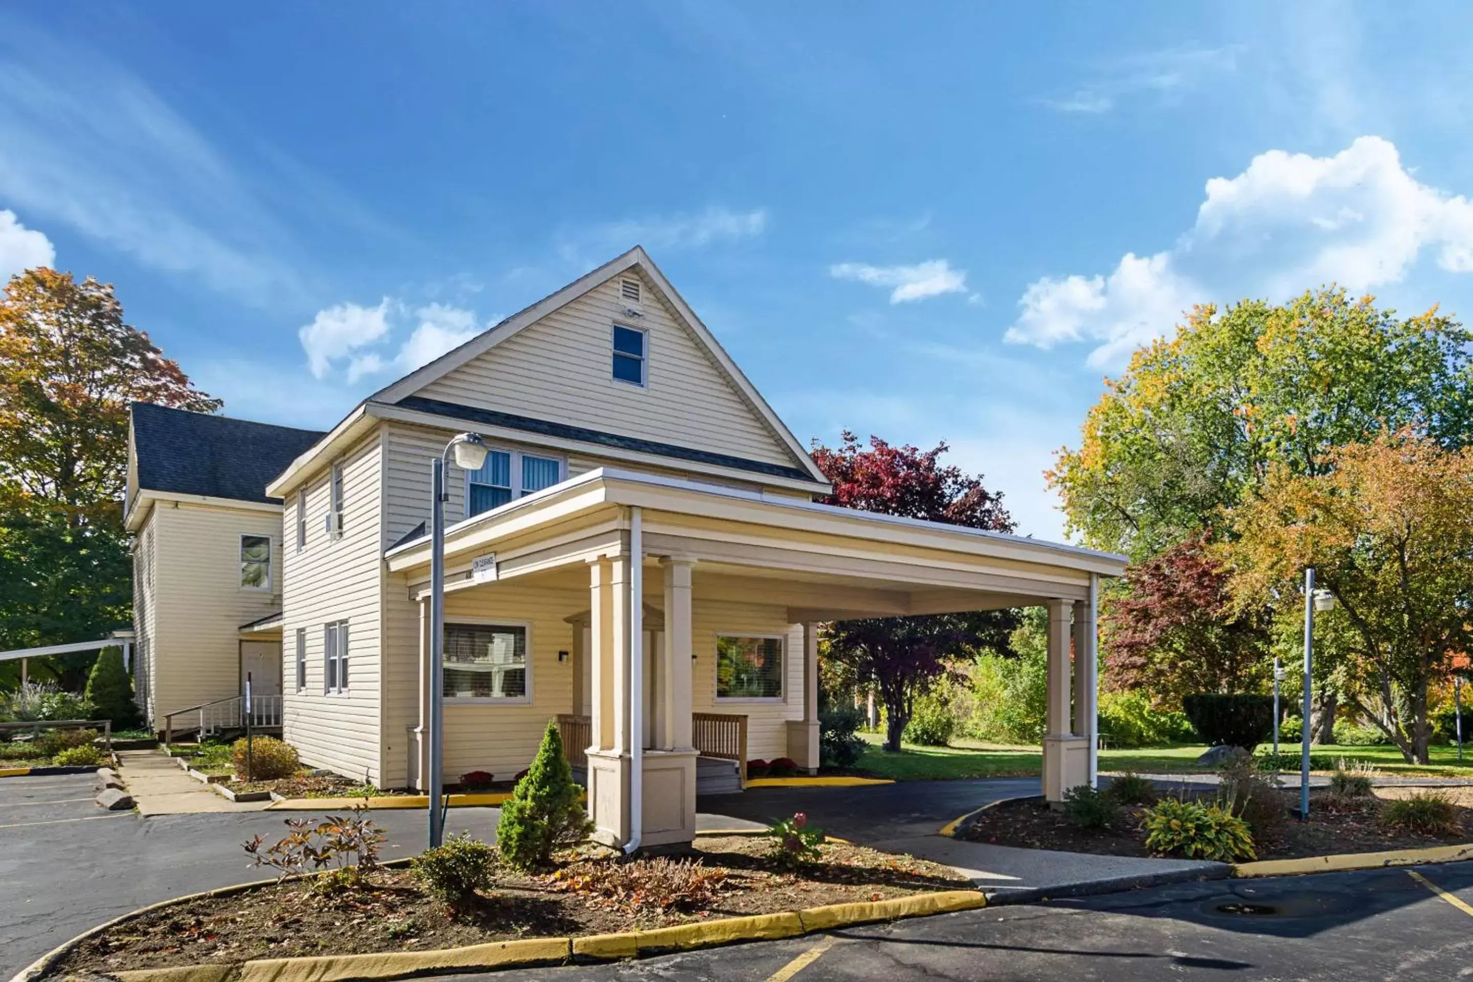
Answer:
[[(1327, 792), (1311, 792), (1309, 820), (1298, 822), (1287, 814), (1299, 807), (1298, 791), (1282, 791), (1284, 819), (1279, 827), (1255, 829), (1254, 845), (1259, 860), (1289, 860), (1337, 852), (1382, 852), (1386, 849), (1426, 848), (1473, 842), (1473, 810), (1458, 808), (1460, 832), (1448, 835), (1418, 835), (1389, 826), (1380, 819), (1380, 802), (1371, 801), (1357, 808), (1337, 807)], [(1186, 795), (1211, 799), (1211, 795)], [(1033, 849), (1061, 849), (1097, 855), (1155, 855), (1146, 848), (1143, 830), (1146, 808), (1125, 805), (1121, 817), (1109, 829), (1080, 829), (1064, 811), (1044, 801), (1030, 798), (1009, 801), (980, 813), (959, 838), (996, 845)]]

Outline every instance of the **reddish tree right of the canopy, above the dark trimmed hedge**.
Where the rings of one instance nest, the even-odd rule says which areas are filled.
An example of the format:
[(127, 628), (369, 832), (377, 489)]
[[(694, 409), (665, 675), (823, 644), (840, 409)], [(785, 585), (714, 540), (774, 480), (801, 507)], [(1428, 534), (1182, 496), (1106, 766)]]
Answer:
[(1233, 607), (1228, 571), (1202, 537), (1131, 564), (1102, 629), (1108, 688), (1145, 689), (1171, 708), (1195, 692), (1254, 692), (1268, 677), (1264, 614)]

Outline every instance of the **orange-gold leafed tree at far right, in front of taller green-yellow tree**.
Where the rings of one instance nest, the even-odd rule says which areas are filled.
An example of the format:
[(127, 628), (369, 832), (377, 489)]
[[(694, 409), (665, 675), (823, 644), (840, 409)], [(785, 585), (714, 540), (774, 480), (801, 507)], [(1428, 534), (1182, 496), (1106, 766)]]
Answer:
[(1240, 608), (1296, 590), (1302, 604), (1314, 567), (1339, 601), (1321, 617), (1360, 676), (1342, 699), (1426, 764), (1429, 685), (1473, 643), (1473, 449), (1402, 430), (1330, 451), (1315, 470), (1279, 467), (1236, 509), (1220, 546), (1230, 589)]

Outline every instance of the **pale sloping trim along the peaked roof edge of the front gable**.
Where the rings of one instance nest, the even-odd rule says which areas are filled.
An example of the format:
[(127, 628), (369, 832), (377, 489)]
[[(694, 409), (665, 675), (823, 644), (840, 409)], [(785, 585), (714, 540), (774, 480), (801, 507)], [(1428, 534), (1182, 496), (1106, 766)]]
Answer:
[(476, 337), (465, 342), (460, 347), (455, 347), (454, 350), (440, 355), (439, 358), (424, 365), (423, 368), (409, 372), (399, 381), (384, 389), (380, 389), (379, 392), (376, 392), (373, 396), (368, 398), (368, 402), (405, 405), (408, 399), (414, 398), (415, 393), (418, 393), (437, 378), (445, 377), (446, 374), (460, 368), (468, 361), (486, 353), (496, 345), (501, 345), (502, 342), (514, 337), (520, 331), (526, 330), (527, 327), (532, 327), (533, 324), (536, 324), (546, 315), (552, 314), (554, 311), (577, 300), (579, 297), (585, 296), (598, 286), (607, 283), (613, 277), (617, 277), (619, 274), (633, 269), (636, 266), (639, 268), (641, 272), (644, 272), (644, 275), (650, 280), (650, 283), (655, 287), (655, 290), (658, 290), (664, 296), (664, 299), (670, 303), (670, 306), (676, 312), (676, 317), (681, 321), (683, 321), (685, 325), (691, 330), (697, 343), (701, 346), (704, 353), (711, 359), (711, 364), (716, 367), (716, 370), (726, 377), (726, 380), (732, 384), (732, 387), (736, 390), (741, 399), (751, 406), (751, 409), (757, 414), (757, 417), (762, 418), (766, 427), (773, 433), (773, 436), (778, 437), (778, 442), (788, 451), (795, 465), (792, 471), (797, 473), (803, 480), (812, 480), (826, 486), (828, 478), (823, 476), (823, 471), (818, 468), (818, 465), (813, 462), (813, 458), (807, 455), (807, 452), (803, 449), (803, 445), (798, 443), (795, 436), (792, 436), (792, 431), (788, 430), (788, 427), (782, 423), (781, 418), (778, 418), (778, 414), (773, 412), (772, 406), (767, 405), (767, 400), (762, 398), (762, 393), (759, 393), (756, 386), (753, 386), (751, 381), (747, 378), (747, 375), (742, 374), (742, 371), (736, 367), (736, 362), (732, 361), (731, 355), (726, 353), (726, 350), (720, 346), (720, 343), (710, 333), (710, 330), (701, 322), (701, 319), (695, 317), (695, 312), (691, 311), (691, 308), (685, 303), (685, 300), (675, 290), (675, 287), (670, 286), (670, 281), (664, 278), (664, 274), (660, 272), (660, 268), (654, 265), (654, 261), (650, 259), (648, 253), (645, 253), (645, 250), (641, 246), (635, 246), (622, 256), (617, 256), (616, 259), (611, 259), (610, 262), (605, 262), (604, 265), (598, 266), (592, 272), (579, 277), (577, 280), (567, 284), (557, 293), (552, 293), (551, 296), (538, 300), (532, 306), (508, 317), (495, 327), (477, 334)]

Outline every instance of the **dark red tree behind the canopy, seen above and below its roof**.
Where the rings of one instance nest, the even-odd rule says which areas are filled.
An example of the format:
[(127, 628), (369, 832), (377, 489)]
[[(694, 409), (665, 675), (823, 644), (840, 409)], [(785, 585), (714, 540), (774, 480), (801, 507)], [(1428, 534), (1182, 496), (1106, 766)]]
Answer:
[[(987, 492), (980, 476), (941, 465), (946, 451), (946, 443), (921, 451), (876, 436), (866, 449), (846, 431), (837, 449), (815, 446), (813, 459), (834, 483), (826, 504), (1012, 531), (1002, 495)], [(899, 751), (915, 696), (946, 671), (946, 660), (978, 648), (1008, 651), (1016, 626), (1012, 611), (838, 621), (825, 627), (823, 651), (862, 685), (876, 688), (885, 704), (885, 749)]]

